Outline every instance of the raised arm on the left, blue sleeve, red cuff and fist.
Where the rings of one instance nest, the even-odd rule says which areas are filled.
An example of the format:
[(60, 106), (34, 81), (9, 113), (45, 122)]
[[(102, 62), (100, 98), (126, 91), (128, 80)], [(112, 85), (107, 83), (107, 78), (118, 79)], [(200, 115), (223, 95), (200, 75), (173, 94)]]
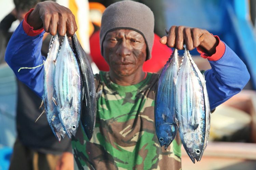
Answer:
[(40, 97), (44, 80), (45, 57), (41, 54), (44, 30), (51, 35), (58, 31), (60, 36), (66, 33), (72, 36), (77, 30), (75, 17), (68, 8), (53, 1), (38, 3), (13, 33), (5, 53), (5, 61), (17, 78)]

